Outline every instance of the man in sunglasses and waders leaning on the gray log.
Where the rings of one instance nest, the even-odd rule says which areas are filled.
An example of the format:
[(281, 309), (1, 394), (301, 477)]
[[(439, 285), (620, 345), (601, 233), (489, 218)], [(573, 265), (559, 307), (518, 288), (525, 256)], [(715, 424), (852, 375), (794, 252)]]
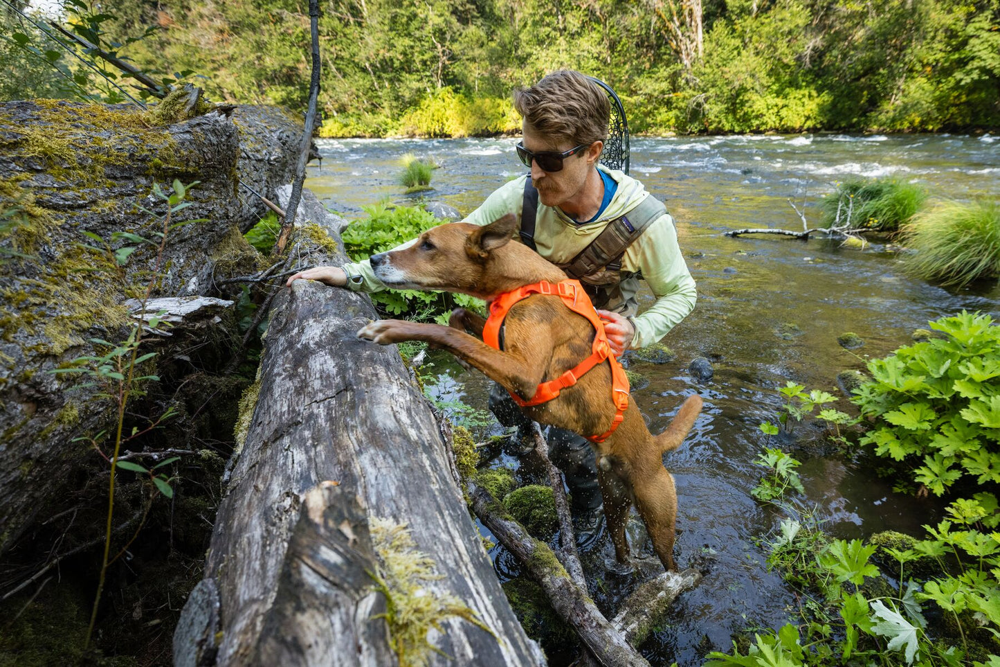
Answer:
[[(587, 287), (616, 356), (656, 343), (694, 307), (695, 284), (663, 205), (639, 181), (599, 163), (608, 136), (607, 95), (580, 72), (560, 70), (516, 90), (514, 106), (523, 118), (517, 153), (530, 166), (530, 178), (503, 185), (464, 221), (487, 224), (515, 213), (522, 240)], [(636, 314), (640, 273), (656, 301)], [(297, 278), (356, 291), (385, 288), (368, 260), (310, 268), (288, 284)], [(504, 426), (526, 426), (498, 386), (490, 409)], [(602, 518), (593, 451), (583, 438), (560, 429), (550, 429), (548, 440), (570, 488), (578, 541), (586, 546), (599, 534)]]

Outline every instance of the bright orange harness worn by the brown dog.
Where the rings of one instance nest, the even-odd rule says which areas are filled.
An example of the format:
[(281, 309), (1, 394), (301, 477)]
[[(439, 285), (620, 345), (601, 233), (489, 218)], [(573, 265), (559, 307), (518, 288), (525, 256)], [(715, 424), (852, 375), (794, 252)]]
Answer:
[(575, 385), (583, 377), (583, 374), (604, 360), (608, 360), (611, 364), (611, 400), (615, 404), (615, 418), (612, 420), (611, 428), (608, 429), (607, 433), (600, 436), (584, 436), (592, 443), (603, 443), (607, 440), (608, 436), (615, 432), (615, 429), (622, 423), (622, 420), (625, 419), (624, 413), (628, 409), (628, 378), (625, 377), (625, 370), (622, 369), (621, 364), (611, 354), (611, 346), (608, 344), (608, 337), (604, 332), (604, 322), (598, 316), (597, 310), (594, 309), (593, 303), (590, 302), (590, 297), (583, 290), (583, 285), (580, 284), (579, 280), (567, 279), (561, 282), (542, 280), (534, 284), (526, 284), (512, 291), (503, 292), (490, 303), (490, 316), (486, 319), (486, 325), (483, 327), (483, 342), (494, 350), (500, 350), (500, 327), (507, 316), (507, 312), (515, 303), (532, 294), (559, 296), (562, 298), (563, 303), (566, 304), (566, 307), (586, 317), (596, 329), (594, 343), (591, 347), (593, 354), (583, 360), (575, 369), (567, 371), (555, 380), (539, 385), (535, 396), (528, 401), (522, 401), (513, 392), (510, 393), (510, 397), (514, 400), (514, 403), (522, 408), (546, 403), (558, 397), (562, 390)]

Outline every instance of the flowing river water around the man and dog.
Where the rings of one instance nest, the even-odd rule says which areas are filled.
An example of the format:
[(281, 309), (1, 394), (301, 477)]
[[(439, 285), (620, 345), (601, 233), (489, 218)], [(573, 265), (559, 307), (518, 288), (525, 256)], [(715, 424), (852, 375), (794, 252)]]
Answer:
[[(435, 190), (426, 196), (463, 213), (524, 172), (511, 138), (318, 143), (324, 160), (310, 167), (306, 185), (349, 219), (382, 199), (406, 201), (397, 183), (405, 153), (441, 165), (434, 172)], [(681, 248), (698, 283), (697, 306), (665, 340), (676, 359), (660, 366), (633, 361), (632, 370), (650, 381), (634, 392), (634, 402), (650, 418), (650, 431), (659, 433), (685, 396), (697, 393), (705, 401), (685, 445), (666, 459), (679, 499), (678, 565), (698, 567), (705, 578), (678, 600), (642, 648), (654, 665), (698, 665), (707, 650), (728, 650), (734, 632), (780, 627), (797, 604), (778, 574), (768, 572), (767, 549), (760, 546), (773, 537), (781, 516), (750, 496), (762, 473), (753, 461), (766, 439), (757, 427), (775, 419), (782, 404), (777, 390), (794, 381), (839, 396), (840, 371), (863, 369), (865, 360), (911, 343), (913, 329), (928, 319), (963, 308), (995, 317), (1000, 310), (996, 283), (945, 289), (913, 281), (879, 245), (856, 250), (821, 239), (720, 233), (801, 229), (789, 198), (816, 226), (820, 198), (851, 176), (912, 181), (928, 190), (929, 201), (996, 197), (1000, 137), (640, 137), (632, 142), (631, 174), (677, 219)], [(652, 295), (644, 299), (648, 304)], [(837, 337), (847, 331), (860, 336), (864, 346), (843, 350)], [(696, 357), (712, 361), (711, 382), (691, 378), (687, 367)], [(485, 407), (481, 377), (436, 362), (441, 397)], [(818, 435), (809, 424), (799, 425), (797, 433), (799, 443)], [(812, 508), (837, 537), (888, 529), (919, 535), (920, 526), (935, 517), (933, 503), (893, 493), (870, 464), (787, 445), (804, 462), (802, 506)], [(615, 582), (609, 574), (595, 591), (599, 604), (613, 606)]]

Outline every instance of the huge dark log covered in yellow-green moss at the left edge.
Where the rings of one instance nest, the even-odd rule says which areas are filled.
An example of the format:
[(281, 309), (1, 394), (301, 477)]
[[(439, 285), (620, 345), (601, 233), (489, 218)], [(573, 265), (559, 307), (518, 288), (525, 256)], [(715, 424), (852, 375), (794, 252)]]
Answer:
[[(132, 105), (0, 103), (0, 553), (106, 469), (74, 439), (107, 428), (110, 402), (50, 372), (107, 352), (93, 339), (124, 340), (125, 301), (151, 280), (154, 296), (238, 294), (217, 291), (215, 279), (257, 270), (239, 230), (264, 208), (237, 176), (264, 194), (288, 182), (301, 127), (259, 107), (159, 125)], [(174, 179), (199, 182), (172, 221), (199, 221), (169, 234), (157, 275), (152, 244), (112, 235), (158, 240), (165, 203), (153, 184)], [(138, 248), (124, 266), (114, 255), (122, 245)]]

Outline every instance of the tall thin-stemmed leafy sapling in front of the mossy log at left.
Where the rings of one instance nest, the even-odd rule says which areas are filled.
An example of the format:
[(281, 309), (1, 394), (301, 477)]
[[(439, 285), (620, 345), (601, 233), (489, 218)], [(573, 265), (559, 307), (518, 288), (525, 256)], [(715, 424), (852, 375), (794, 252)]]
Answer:
[[(156, 248), (156, 260), (152, 270), (152, 277), (146, 285), (146, 290), (141, 299), (139, 309), (140, 319), (132, 323), (129, 335), (125, 341), (114, 344), (101, 339), (92, 339), (91, 343), (95, 346), (105, 348), (107, 350), (104, 355), (79, 357), (73, 360), (69, 367), (52, 371), (54, 374), (76, 374), (87, 378), (89, 382), (82, 385), (82, 387), (96, 388), (97, 391), (95, 392), (95, 396), (110, 399), (117, 406), (114, 433), (110, 435), (112, 450), (110, 456), (105, 454), (101, 447), (102, 443), (109, 436), (106, 431), (102, 431), (94, 436), (83, 436), (74, 439), (74, 442), (89, 442), (94, 450), (108, 462), (111, 469), (110, 482), (108, 483), (108, 514), (104, 540), (104, 556), (101, 561), (101, 572), (97, 585), (97, 594), (94, 598), (94, 607), (91, 612), (90, 626), (87, 630), (86, 643), (88, 645), (90, 644), (90, 638), (94, 630), (94, 623), (97, 619), (97, 610), (100, 605), (101, 593), (104, 589), (104, 581), (107, 575), (108, 567), (119, 556), (121, 556), (122, 553), (124, 553), (123, 549), (114, 558), (110, 557), (115, 505), (115, 481), (118, 469), (120, 468), (126, 471), (146, 474), (149, 476), (150, 481), (159, 493), (167, 497), (173, 496), (173, 489), (170, 486), (171, 478), (164, 474), (155, 472), (157, 469), (173, 463), (172, 460), (168, 459), (167, 461), (153, 466), (152, 469), (147, 469), (129, 461), (120, 462), (119, 454), (123, 444), (149, 431), (152, 431), (153, 429), (159, 428), (163, 422), (170, 419), (174, 415), (173, 409), (170, 408), (158, 418), (149, 420), (149, 425), (146, 429), (140, 430), (138, 427), (133, 427), (130, 435), (125, 435), (123, 433), (125, 427), (125, 416), (131, 401), (144, 394), (143, 386), (145, 383), (159, 381), (157, 376), (152, 374), (142, 375), (142, 372), (139, 371), (141, 366), (152, 361), (153, 358), (156, 357), (156, 353), (140, 354), (140, 348), (143, 344), (143, 332), (147, 329), (155, 331), (165, 325), (162, 317), (164, 312), (162, 311), (152, 316), (146, 316), (146, 303), (149, 301), (154, 286), (159, 281), (159, 273), (163, 268), (164, 249), (166, 248), (167, 237), (170, 232), (185, 224), (204, 221), (203, 219), (189, 219), (180, 222), (173, 221), (174, 214), (190, 205), (189, 202), (184, 201), (184, 198), (187, 194), (188, 188), (196, 184), (197, 181), (184, 186), (179, 180), (174, 180), (173, 192), (170, 194), (164, 193), (158, 183), (153, 184), (153, 194), (161, 201), (165, 202), (167, 206), (166, 213), (162, 215), (162, 230), (152, 232), (158, 240), (146, 238), (131, 232), (115, 232), (112, 234), (112, 242), (106, 242), (97, 234), (84, 232), (92, 240), (96, 239), (100, 242), (100, 245), (97, 246), (84, 244), (85, 247), (97, 252), (109, 253), (114, 261), (120, 266), (127, 264), (130, 257), (139, 249), (141, 245), (148, 244)], [(160, 217), (160, 214), (149, 209), (143, 208), (142, 210), (153, 217)], [(123, 239), (134, 241), (139, 243), (139, 245), (121, 245), (117, 248), (113, 247), (114, 242)]]

